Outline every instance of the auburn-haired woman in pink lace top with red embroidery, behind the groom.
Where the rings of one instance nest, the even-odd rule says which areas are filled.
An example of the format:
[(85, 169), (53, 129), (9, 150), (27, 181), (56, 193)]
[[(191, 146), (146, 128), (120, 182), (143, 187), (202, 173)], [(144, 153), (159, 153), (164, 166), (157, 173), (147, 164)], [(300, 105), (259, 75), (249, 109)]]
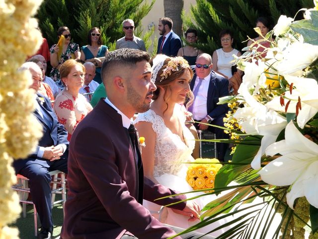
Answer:
[(75, 127), (91, 110), (86, 98), (79, 94), (84, 83), (85, 67), (76, 60), (67, 60), (60, 68), (60, 75), (65, 88), (56, 97), (54, 110), (71, 139)]

